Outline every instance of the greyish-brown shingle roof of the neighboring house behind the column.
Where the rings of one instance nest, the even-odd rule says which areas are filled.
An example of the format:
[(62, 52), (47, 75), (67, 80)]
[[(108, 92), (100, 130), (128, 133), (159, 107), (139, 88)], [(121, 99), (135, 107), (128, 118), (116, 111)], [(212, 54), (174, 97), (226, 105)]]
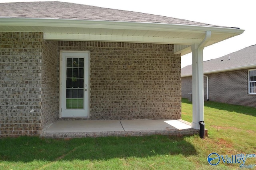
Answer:
[[(204, 61), (204, 73), (239, 69), (256, 65), (256, 45), (251, 45), (223, 57)], [(192, 75), (192, 65), (181, 69), (181, 76)]]

